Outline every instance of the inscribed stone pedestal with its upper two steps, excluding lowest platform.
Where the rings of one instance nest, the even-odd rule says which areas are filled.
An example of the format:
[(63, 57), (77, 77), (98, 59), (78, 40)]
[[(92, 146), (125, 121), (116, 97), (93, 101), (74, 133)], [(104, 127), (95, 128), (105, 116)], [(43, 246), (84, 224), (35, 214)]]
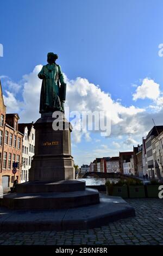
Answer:
[[(55, 124), (54, 124), (55, 121)], [(60, 126), (60, 129), (54, 129)], [(62, 129), (61, 129), (62, 127)], [(35, 155), (29, 181), (16, 185), (16, 193), (5, 195), (2, 205), (10, 209), (70, 209), (99, 203), (97, 190), (74, 180), (71, 156), (71, 124), (52, 113), (41, 115), (35, 128)]]

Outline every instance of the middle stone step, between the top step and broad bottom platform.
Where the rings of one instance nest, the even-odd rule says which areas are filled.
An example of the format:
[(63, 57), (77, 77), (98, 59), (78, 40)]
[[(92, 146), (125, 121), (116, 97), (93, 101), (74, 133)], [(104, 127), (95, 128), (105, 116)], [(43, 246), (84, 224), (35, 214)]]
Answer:
[(9, 209), (70, 209), (99, 203), (97, 190), (49, 193), (10, 193), (1, 199)]

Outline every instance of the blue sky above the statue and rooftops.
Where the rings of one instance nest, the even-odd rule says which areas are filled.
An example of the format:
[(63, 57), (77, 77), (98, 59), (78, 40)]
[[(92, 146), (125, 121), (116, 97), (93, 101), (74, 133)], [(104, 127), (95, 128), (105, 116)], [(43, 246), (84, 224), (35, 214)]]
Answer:
[[(94, 157), (117, 155), (118, 151), (132, 149), (133, 143), (141, 143), (141, 137), (151, 129), (152, 117), (156, 124), (162, 124), (163, 58), (158, 55), (158, 46), (163, 43), (162, 9), (161, 0), (3, 1), (0, 44), (3, 44), (4, 56), (0, 57), (0, 76), (9, 110), (20, 112), (22, 120), (29, 121), (29, 113), (25, 117), (22, 110), (24, 101), (28, 104), (23, 96), (22, 77), (27, 74), (28, 80), (35, 66), (46, 63), (47, 52), (53, 51), (58, 53), (58, 64), (68, 80), (76, 81), (81, 77), (99, 85), (102, 99), (102, 91), (109, 93), (114, 102), (120, 99), (120, 112), (125, 108), (124, 112), (128, 113), (130, 106), (145, 109), (143, 117), (142, 114), (135, 116), (135, 112), (131, 115), (135, 117), (131, 124), (123, 118), (123, 127), (133, 127), (134, 122), (139, 124), (142, 119), (148, 120), (143, 121), (135, 132), (125, 128), (125, 131), (121, 129), (122, 135), (120, 131), (115, 132), (108, 139), (92, 133), (91, 139), (85, 140), (82, 136), (80, 142), (74, 140), (74, 160), (78, 164), (89, 163)], [(159, 96), (156, 93), (152, 97), (146, 90), (142, 99), (140, 93), (144, 90), (141, 87), (133, 100), (133, 94), (145, 78), (148, 78), (146, 89), (152, 89), (154, 95), (158, 89), (156, 84), (159, 85)], [(151, 86), (150, 81), (153, 81)], [(75, 97), (77, 90), (73, 93)], [(91, 100), (92, 105), (96, 100), (99, 103), (96, 94), (92, 94)], [(161, 102), (159, 106), (157, 102)], [(120, 116), (120, 112), (117, 115)], [(118, 127), (120, 125), (115, 121), (112, 129)]]

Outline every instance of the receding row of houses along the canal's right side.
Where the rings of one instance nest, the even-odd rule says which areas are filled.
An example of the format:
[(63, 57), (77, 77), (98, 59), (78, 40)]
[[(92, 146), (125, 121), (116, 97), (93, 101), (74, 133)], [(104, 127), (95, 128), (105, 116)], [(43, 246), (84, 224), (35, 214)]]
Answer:
[[(86, 166), (86, 164), (83, 164)], [(82, 172), (121, 172), (149, 178), (163, 178), (163, 125), (153, 126), (142, 144), (133, 146), (133, 151), (119, 152), (116, 157), (96, 158)]]

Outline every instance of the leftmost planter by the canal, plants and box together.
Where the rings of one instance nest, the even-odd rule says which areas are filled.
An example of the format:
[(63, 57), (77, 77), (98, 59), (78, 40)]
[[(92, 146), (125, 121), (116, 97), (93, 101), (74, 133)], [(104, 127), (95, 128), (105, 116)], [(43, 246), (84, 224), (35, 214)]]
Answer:
[(121, 179), (117, 183), (111, 183), (109, 180), (106, 181), (106, 194), (108, 196), (117, 196), (122, 198), (128, 198), (128, 190), (126, 180)]

